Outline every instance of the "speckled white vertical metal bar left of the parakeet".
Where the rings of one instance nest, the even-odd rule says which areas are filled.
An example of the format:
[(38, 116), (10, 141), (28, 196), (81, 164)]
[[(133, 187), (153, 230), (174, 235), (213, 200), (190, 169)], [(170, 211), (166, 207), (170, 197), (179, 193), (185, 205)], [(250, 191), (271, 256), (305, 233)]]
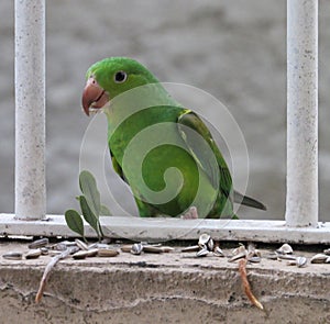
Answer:
[(15, 215), (45, 216), (45, 0), (15, 0)]

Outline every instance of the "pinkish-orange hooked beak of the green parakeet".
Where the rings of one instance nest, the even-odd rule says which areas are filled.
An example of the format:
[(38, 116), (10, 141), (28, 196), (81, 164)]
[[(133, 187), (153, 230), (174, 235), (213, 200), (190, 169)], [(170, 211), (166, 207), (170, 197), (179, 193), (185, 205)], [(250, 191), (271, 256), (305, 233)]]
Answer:
[(89, 115), (90, 109), (100, 109), (110, 100), (108, 92), (102, 89), (94, 77), (90, 77), (82, 92), (82, 109)]

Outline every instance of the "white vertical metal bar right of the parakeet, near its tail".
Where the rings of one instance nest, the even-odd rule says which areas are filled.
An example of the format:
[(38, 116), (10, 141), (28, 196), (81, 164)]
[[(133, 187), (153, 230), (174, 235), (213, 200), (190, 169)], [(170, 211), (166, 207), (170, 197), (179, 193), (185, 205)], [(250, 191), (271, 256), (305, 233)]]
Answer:
[(318, 222), (318, 0), (287, 0), (286, 224)]

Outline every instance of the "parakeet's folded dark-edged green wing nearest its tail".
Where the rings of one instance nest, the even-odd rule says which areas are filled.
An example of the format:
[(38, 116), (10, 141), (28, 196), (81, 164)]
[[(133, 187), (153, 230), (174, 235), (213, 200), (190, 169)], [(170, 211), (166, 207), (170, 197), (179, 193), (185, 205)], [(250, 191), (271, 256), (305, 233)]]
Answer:
[[(216, 157), (218, 164), (217, 166), (215, 166), (215, 164), (210, 164), (209, 154), (207, 154), (206, 146), (200, 145), (200, 141), (196, 141), (196, 136), (191, 136), (191, 132), (188, 132), (187, 127), (197, 132), (202, 139), (208, 143)], [(201, 169), (205, 170), (205, 172), (210, 177), (211, 181), (211, 178), (219, 172), (219, 182), (216, 185), (221, 193), (223, 193), (227, 198), (230, 198), (230, 201), (233, 201), (232, 179), (229, 168), (206, 124), (196, 113), (191, 112), (190, 110), (186, 110), (178, 118), (178, 129), (191, 155), (199, 164)], [(218, 170), (215, 170), (215, 167), (218, 167)]]

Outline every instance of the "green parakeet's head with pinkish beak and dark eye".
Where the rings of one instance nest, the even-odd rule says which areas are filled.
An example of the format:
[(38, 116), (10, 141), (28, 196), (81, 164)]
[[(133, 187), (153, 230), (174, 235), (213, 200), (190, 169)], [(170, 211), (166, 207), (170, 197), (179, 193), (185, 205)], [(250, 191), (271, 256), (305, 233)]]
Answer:
[(88, 69), (86, 78), (82, 108), (87, 115), (90, 110), (102, 108), (124, 91), (158, 82), (143, 65), (127, 57), (110, 57), (97, 62)]

